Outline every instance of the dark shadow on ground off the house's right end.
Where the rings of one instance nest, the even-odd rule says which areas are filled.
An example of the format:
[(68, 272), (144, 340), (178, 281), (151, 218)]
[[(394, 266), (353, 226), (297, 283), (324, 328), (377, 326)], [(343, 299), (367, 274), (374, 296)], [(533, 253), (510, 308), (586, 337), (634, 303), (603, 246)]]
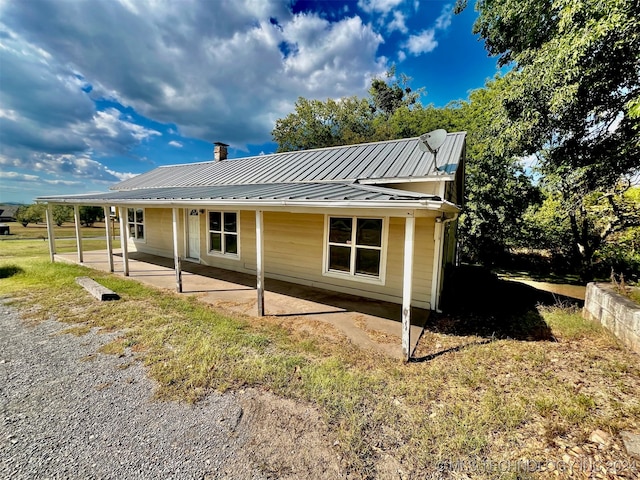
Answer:
[(582, 303), (465, 265), (446, 272), (443, 313), (432, 315), (426, 328), (451, 335), (550, 341), (551, 329), (538, 307)]

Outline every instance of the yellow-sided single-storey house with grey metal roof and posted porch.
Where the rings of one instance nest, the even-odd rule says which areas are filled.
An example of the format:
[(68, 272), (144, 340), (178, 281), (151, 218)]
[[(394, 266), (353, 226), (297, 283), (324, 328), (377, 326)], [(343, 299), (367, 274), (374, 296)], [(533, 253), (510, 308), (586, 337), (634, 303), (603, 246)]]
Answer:
[(421, 138), (235, 160), (216, 143), (212, 161), (37, 200), (117, 207), (125, 274), (129, 251), (174, 257), (178, 290), (183, 261), (255, 274), (260, 315), (265, 276), (401, 304), (408, 351), (411, 306), (438, 309), (464, 185), (465, 132), (437, 154)]

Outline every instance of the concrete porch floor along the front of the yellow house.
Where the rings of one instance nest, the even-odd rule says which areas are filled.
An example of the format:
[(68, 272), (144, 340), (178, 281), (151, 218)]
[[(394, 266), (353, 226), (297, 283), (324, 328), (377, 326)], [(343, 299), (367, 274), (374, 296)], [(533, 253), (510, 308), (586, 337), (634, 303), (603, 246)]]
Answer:
[[(56, 260), (78, 263), (76, 253), (56, 254)], [(82, 265), (109, 271), (106, 250), (84, 252)], [(122, 258), (114, 250), (115, 274), (123, 275)], [(255, 317), (256, 277), (183, 261), (182, 292), (223, 310)], [(129, 278), (176, 291), (173, 259), (132, 252)], [(117, 292), (116, 292), (117, 293)], [(324, 322), (361, 348), (402, 358), (401, 305), (331, 292), (280, 280), (265, 279), (265, 314)], [(415, 350), (429, 311), (411, 311), (411, 352)], [(315, 329), (317, 330), (317, 329)], [(314, 330), (314, 331), (315, 331)]]

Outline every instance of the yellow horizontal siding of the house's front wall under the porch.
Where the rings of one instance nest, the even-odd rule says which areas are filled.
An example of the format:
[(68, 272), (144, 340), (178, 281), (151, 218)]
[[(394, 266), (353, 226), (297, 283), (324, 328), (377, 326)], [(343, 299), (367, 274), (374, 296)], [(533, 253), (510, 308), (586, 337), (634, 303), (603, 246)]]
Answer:
[[(200, 261), (205, 265), (255, 273), (255, 212), (240, 213), (240, 258), (207, 253), (207, 214), (200, 215)], [(147, 253), (173, 256), (171, 209), (145, 210), (146, 242), (136, 243)], [(184, 212), (180, 212), (179, 243), (184, 251)], [(385, 284), (323, 275), (324, 215), (286, 212), (264, 213), (265, 275), (318, 288), (381, 300), (402, 302), (404, 218), (389, 218)], [(414, 250), (413, 302), (429, 307), (433, 272), (434, 219), (417, 218)]]

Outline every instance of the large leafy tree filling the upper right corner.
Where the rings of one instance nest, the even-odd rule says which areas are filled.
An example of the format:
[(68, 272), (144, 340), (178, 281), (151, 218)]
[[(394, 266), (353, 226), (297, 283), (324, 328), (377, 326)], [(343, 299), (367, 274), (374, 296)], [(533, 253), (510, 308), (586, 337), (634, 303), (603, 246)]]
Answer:
[(474, 32), (511, 67), (501, 79), (509, 120), (501, 141), (538, 154), (587, 276), (602, 232), (585, 199), (618, 198), (640, 166), (640, 2), (479, 0), (476, 8)]

